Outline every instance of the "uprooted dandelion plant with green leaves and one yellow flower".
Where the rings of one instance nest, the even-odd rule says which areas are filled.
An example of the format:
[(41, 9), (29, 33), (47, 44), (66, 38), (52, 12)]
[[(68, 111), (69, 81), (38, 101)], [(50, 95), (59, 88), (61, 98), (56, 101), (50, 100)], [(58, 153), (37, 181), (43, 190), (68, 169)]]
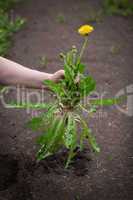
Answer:
[[(94, 112), (95, 106), (100, 101), (91, 101), (89, 107), (84, 105), (84, 98), (95, 91), (96, 83), (92, 76), (85, 75), (85, 65), (82, 63), (82, 56), (87, 46), (88, 36), (93, 27), (84, 25), (78, 32), (84, 37), (84, 43), (79, 52), (76, 46), (72, 46), (67, 53), (61, 53), (60, 57), (64, 64), (65, 77), (59, 83), (45, 80), (53, 94), (56, 96), (54, 102), (49, 104), (33, 105), (29, 108), (42, 108), (45, 112), (38, 117), (32, 118), (28, 125), (35, 131), (41, 131), (42, 135), (37, 139), (40, 149), (37, 153), (37, 160), (42, 160), (58, 152), (62, 147), (68, 150), (68, 157), (65, 163), (67, 168), (76, 155), (77, 147), (80, 151), (84, 148), (84, 141), (87, 140), (94, 152), (100, 152), (100, 147), (88, 127), (82, 111)], [(113, 99), (107, 99), (103, 104), (111, 105)], [(18, 106), (24, 108), (25, 105)]]

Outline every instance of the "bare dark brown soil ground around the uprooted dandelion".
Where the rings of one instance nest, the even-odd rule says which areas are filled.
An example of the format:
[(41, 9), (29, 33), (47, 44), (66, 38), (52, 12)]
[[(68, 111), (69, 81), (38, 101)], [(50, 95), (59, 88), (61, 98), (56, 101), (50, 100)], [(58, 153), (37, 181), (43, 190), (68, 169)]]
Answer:
[[(46, 72), (62, 68), (58, 55), (73, 44), (80, 47), (77, 28), (86, 23), (90, 8), (98, 0), (29, 0), (19, 4), (14, 15), (27, 19), (26, 27), (14, 37), (9, 58)], [(58, 22), (58, 15), (65, 23)], [(133, 17), (106, 16), (92, 23), (84, 62), (97, 81), (97, 91), (114, 97), (133, 84)], [(43, 68), (41, 56), (47, 56)], [(13, 99), (14, 91), (7, 94)], [(47, 93), (46, 93), (47, 96)], [(90, 126), (101, 146), (98, 156), (88, 147), (78, 154), (71, 169), (63, 168), (65, 153), (36, 163), (36, 137), (26, 128), (30, 114), (0, 107), (0, 200), (132, 200), (133, 117), (115, 106), (97, 114)]]

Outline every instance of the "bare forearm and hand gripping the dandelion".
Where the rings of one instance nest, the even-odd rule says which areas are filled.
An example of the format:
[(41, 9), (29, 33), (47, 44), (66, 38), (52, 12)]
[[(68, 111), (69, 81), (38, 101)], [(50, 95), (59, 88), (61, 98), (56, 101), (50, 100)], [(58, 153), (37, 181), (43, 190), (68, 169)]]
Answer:
[(46, 88), (44, 80), (59, 82), (64, 77), (64, 70), (53, 74), (40, 72), (24, 67), (18, 63), (0, 57), (0, 84), (20, 85), (29, 88)]

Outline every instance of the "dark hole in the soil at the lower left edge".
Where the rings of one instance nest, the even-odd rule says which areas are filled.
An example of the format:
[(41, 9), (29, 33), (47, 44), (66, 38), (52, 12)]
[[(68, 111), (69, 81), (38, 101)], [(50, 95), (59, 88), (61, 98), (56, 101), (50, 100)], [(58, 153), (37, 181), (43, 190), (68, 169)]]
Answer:
[(11, 155), (0, 155), (0, 191), (16, 182), (18, 162)]

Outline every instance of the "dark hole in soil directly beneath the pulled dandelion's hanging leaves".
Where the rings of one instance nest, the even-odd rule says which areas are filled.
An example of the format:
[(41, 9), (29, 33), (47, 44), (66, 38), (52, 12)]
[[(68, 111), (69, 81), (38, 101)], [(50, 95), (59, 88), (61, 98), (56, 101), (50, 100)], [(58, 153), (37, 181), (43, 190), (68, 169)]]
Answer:
[(58, 152), (57, 154), (48, 157), (46, 160), (40, 161), (39, 165), (43, 166), (44, 173), (74, 173), (77, 176), (84, 176), (88, 171), (87, 164), (91, 161), (91, 158), (90, 156), (88, 157), (87, 150), (80, 152), (79, 149), (77, 149), (76, 151), (77, 155), (68, 169), (65, 169), (65, 161), (68, 156), (66, 150)]

